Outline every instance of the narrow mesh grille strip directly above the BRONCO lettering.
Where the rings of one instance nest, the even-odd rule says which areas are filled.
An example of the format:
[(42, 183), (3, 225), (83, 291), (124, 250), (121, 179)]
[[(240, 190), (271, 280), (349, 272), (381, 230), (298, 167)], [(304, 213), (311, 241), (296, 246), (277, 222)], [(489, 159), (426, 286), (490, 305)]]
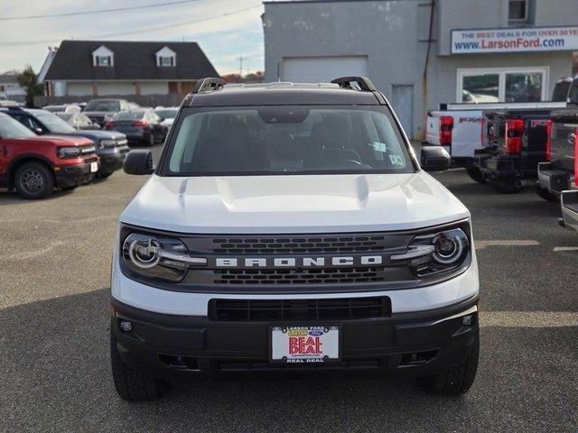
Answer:
[(384, 235), (213, 239), (214, 253), (346, 253), (385, 249)]

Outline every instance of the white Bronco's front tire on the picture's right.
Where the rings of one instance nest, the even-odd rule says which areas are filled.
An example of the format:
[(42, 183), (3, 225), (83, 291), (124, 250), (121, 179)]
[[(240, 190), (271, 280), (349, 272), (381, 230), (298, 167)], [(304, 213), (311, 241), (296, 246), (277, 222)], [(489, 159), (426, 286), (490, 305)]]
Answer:
[(480, 333), (478, 331), (468, 355), (442, 373), (420, 377), (417, 383), (425, 392), (435, 395), (461, 395), (470, 390), (476, 378), (479, 357)]

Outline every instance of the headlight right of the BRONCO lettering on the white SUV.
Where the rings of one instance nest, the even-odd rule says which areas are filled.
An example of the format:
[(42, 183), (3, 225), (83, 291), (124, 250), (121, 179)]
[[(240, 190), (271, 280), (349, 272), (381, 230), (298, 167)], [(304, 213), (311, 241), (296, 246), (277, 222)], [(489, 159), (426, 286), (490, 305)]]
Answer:
[(406, 261), (418, 277), (453, 271), (470, 253), (470, 241), (461, 228), (416, 236), (406, 253), (394, 254), (392, 262)]

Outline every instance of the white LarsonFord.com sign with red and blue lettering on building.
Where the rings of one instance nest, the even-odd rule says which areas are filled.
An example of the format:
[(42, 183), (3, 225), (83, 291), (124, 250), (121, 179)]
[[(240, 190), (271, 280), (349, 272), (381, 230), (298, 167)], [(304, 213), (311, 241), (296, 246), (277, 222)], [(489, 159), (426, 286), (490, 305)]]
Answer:
[(578, 26), (452, 30), (452, 54), (578, 51)]

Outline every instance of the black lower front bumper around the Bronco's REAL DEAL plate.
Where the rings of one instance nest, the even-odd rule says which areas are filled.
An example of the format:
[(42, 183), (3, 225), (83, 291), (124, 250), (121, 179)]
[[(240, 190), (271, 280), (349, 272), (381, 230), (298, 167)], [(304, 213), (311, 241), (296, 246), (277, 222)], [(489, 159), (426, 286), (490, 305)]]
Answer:
[[(341, 359), (323, 364), (269, 363), (268, 321), (167, 315), (113, 299), (111, 326), (123, 361), (163, 379), (303, 370), (424, 376), (447, 369), (475, 344), (479, 333), (477, 301), (475, 296), (443, 309), (331, 320), (330, 324), (341, 326)], [(463, 324), (464, 315), (471, 316), (471, 324)], [(129, 321), (132, 329), (121, 330), (121, 321)], [(328, 321), (306, 323), (316, 324), (327, 325)]]

